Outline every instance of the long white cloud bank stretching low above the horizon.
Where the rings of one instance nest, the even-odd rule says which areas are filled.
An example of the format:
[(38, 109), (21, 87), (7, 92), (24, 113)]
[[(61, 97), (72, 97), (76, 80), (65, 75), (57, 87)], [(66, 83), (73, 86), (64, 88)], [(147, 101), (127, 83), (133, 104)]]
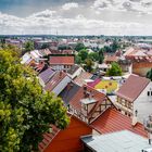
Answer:
[(83, 14), (66, 18), (51, 10), (24, 18), (0, 13), (1, 34), (56, 34), (58, 30), (60, 35), (150, 35), (151, 28), (136, 22), (87, 18)]

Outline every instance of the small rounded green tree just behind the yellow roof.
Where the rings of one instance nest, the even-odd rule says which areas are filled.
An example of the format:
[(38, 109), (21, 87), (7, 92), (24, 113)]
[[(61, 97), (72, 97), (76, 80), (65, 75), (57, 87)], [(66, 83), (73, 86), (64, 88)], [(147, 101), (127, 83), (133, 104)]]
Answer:
[(122, 76), (122, 68), (121, 66), (113, 62), (112, 67), (106, 72), (107, 76)]

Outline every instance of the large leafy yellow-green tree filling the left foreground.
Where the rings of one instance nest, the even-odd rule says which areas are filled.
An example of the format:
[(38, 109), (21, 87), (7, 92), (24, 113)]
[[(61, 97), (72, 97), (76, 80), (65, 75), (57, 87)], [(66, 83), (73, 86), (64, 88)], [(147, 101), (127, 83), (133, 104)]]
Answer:
[(68, 121), (61, 99), (43, 93), (33, 69), (0, 50), (0, 151), (36, 151), (50, 124), (62, 129)]

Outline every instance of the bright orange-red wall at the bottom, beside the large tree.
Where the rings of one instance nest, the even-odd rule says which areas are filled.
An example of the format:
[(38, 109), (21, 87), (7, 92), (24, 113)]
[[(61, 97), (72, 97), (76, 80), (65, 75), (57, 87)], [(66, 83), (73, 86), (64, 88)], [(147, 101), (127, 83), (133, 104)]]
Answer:
[(73, 117), (69, 126), (61, 130), (45, 152), (81, 152), (81, 136), (91, 135), (92, 129), (85, 123)]

